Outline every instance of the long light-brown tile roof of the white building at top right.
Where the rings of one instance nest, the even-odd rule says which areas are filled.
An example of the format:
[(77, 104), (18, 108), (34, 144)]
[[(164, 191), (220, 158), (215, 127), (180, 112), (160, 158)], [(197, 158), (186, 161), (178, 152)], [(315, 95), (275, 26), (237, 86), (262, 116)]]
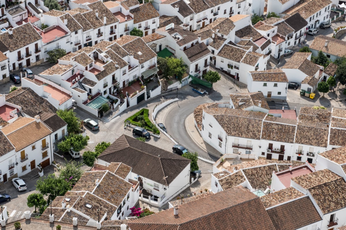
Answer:
[(294, 14), (298, 12), (302, 18), (308, 19), (316, 12), (324, 9), (332, 2), (330, 0), (302, 0), (294, 6), (282, 12), (282, 14)]

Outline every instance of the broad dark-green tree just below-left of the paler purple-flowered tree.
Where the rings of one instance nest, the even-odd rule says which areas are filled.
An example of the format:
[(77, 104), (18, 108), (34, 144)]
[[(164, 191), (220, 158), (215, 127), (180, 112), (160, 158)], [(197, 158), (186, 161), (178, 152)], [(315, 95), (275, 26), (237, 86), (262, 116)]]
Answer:
[(56, 177), (53, 173), (45, 178), (39, 178), (36, 182), (36, 190), (46, 196), (51, 194), (51, 200), (57, 196), (63, 196), (71, 188), (72, 184), (69, 180)]

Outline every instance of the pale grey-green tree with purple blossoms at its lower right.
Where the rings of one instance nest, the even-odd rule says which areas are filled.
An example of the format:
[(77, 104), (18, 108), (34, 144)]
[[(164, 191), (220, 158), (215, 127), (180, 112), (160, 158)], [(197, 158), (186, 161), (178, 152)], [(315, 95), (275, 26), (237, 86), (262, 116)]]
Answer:
[(65, 166), (60, 169), (59, 177), (69, 180), (72, 184), (76, 184), (83, 174), (82, 165), (83, 163), (73, 159), (66, 161)]

